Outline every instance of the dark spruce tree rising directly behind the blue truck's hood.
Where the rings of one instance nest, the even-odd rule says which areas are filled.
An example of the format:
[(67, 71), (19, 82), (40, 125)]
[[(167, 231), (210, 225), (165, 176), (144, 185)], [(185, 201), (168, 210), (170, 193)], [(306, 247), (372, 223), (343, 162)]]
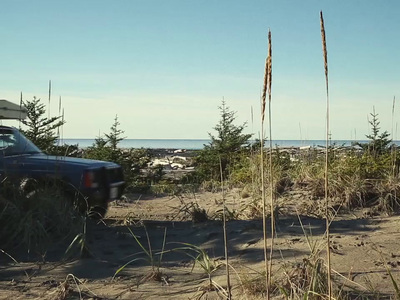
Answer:
[(23, 101), (23, 105), (27, 109), (27, 119), (21, 122), (27, 129), (21, 129), (21, 132), (39, 149), (48, 153), (52, 152), (58, 138), (56, 130), (65, 121), (61, 119), (61, 116), (47, 118), (45, 105), (36, 97), (33, 97), (32, 101)]

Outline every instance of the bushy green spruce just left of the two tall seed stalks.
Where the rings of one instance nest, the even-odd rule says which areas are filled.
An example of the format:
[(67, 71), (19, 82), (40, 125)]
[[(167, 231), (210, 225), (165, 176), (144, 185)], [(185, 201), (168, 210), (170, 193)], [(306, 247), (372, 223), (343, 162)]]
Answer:
[(235, 125), (235, 112), (229, 110), (225, 101), (219, 107), (221, 119), (214, 127), (217, 135), (209, 133), (211, 142), (204, 146), (195, 160), (196, 176), (202, 180), (220, 180), (229, 177), (232, 167), (240, 160), (244, 152), (248, 152), (251, 134), (244, 134), (246, 123)]

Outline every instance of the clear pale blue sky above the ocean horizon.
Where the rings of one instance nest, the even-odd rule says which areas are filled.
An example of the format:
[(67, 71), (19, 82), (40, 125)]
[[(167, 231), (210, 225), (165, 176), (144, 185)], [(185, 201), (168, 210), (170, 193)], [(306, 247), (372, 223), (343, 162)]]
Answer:
[(47, 105), (51, 80), (50, 113), (61, 96), (65, 138), (108, 132), (115, 115), (128, 138), (207, 138), (222, 99), (258, 136), (270, 28), (273, 139), (324, 139), (320, 10), (332, 138), (363, 139), (373, 107), (397, 138), (397, 0), (0, 3), (0, 98), (18, 103), (22, 92)]

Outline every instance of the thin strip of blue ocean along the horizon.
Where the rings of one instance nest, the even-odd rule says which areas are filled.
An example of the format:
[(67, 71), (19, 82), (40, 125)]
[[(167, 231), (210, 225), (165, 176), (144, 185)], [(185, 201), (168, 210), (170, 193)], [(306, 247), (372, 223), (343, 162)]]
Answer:
[[(81, 148), (92, 146), (94, 139), (63, 139), (62, 143), (68, 145), (78, 145)], [(150, 148), (150, 149), (186, 149), (199, 150), (203, 149), (205, 144), (208, 144), (208, 139), (124, 139), (118, 146), (121, 148)], [(350, 140), (332, 140), (331, 144), (335, 143), (338, 146), (350, 146), (353, 141)], [(367, 142), (367, 141), (358, 141)], [(274, 147), (317, 147), (324, 146), (325, 140), (273, 140)], [(400, 145), (396, 141), (395, 144)], [(269, 141), (265, 142), (268, 147)]]

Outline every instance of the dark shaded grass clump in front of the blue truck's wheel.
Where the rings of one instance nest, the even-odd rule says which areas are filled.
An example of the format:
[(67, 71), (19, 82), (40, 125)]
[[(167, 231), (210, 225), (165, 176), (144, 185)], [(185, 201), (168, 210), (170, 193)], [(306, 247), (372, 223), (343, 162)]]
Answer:
[(0, 242), (4, 248), (22, 246), (43, 254), (54, 241), (75, 236), (80, 214), (57, 188), (38, 190), (30, 197), (14, 189), (0, 196)]

